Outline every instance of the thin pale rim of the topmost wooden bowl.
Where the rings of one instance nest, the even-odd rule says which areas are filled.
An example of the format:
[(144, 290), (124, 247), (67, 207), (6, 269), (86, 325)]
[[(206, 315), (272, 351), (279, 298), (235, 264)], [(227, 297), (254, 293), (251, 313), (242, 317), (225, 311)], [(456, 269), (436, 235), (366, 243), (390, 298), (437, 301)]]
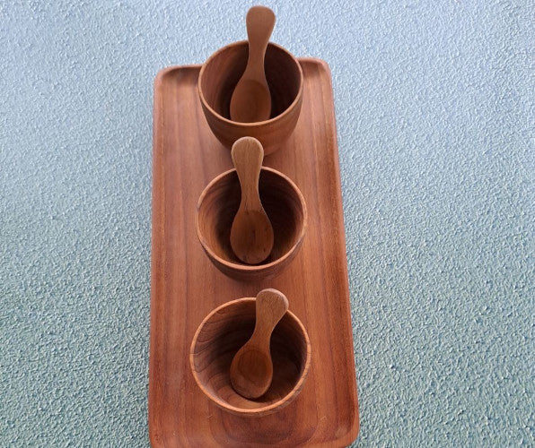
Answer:
[(273, 47), (276, 47), (276, 48), (282, 50), (287, 56), (290, 56), (290, 58), (294, 61), (294, 64), (297, 66), (297, 70), (299, 71), (299, 90), (297, 90), (297, 95), (295, 96), (294, 101), (292, 101), (290, 106), (285, 108), (285, 110), (281, 114), (279, 114), (277, 116), (274, 116), (273, 118), (269, 118), (268, 120), (255, 121), (255, 122), (252, 122), (252, 123), (242, 123), (241, 121), (232, 121), (232, 120), (230, 120), (228, 118), (225, 118), (224, 116), (218, 114), (217, 112), (215, 112), (214, 108), (212, 108), (208, 104), (208, 101), (206, 101), (205, 94), (204, 94), (203, 90), (201, 89), (201, 82), (202, 82), (202, 79), (203, 79), (203, 75), (205, 73), (206, 66), (215, 58), (215, 56), (219, 55), (220, 53), (223, 53), (224, 51), (228, 50), (229, 48), (241, 47), (241, 46), (243, 46), (245, 44), (249, 44), (249, 41), (248, 40), (238, 40), (237, 42), (232, 42), (231, 44), (228, 44), (228, 45), (225, 45), (224, 47), (219, 48), (210, 57), (208, 57), (208, 59), (206, 59), (205, 63), (203, 65), (201, 65), (200, 72), (198, 73), (198, 79), (197, 79), (198, 96), (200, 97), (200, 100), (201, 100), (201, 103), (203, 104), (203, 106), (210, 111), (210, 114), (214, 115), (215, 117), (217, 117), (218, 120), (221, 120), (221, 121), (223, 121), (224, 123), (226, 123), (228, 125), (236, 125), (236, 126), (242, 126), (242, 127), (245, 127), (245, 128), (250, 128), (250, 127), (255, 127), (255, 126), (260, 126), (260, 125), (269, 125), (271, 123), (275, 123), (277, 120), (280, 120), (284, 116), (290, 114), (292, 112), (292, 110), (294, 110), (294, 108), (297, 106), (297, 104), (299, 103), (299, 101), (301, 101), (301, 99), (303, 97), (303, 68), (301, 67), (301, 64), (299, 64), (299, 61), (297, 60), (297, 58), (294, 55), (292, 55), (292, 53), (290, 53), (285, 47), (282, 47), (282, 46), (280, 46), (280, 45), (278, 45), (278, 44), (276, 44), (274, 42), (268, 42), (268, 44), (267, 44), (268, 46), (270, 45), (270, 46), (273, 46)]

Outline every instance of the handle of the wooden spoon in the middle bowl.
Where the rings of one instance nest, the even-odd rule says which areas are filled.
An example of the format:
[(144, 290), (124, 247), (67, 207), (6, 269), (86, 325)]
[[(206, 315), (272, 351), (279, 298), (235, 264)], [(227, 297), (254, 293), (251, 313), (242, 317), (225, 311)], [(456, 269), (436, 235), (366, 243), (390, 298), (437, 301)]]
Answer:
[(259, 176), (264, 159), (262, 144), (253, 137), (241, 137), (232, 145), (232, 163), (238, 173), (241, 185), (241, 204), (257, 205), (259, 197)]

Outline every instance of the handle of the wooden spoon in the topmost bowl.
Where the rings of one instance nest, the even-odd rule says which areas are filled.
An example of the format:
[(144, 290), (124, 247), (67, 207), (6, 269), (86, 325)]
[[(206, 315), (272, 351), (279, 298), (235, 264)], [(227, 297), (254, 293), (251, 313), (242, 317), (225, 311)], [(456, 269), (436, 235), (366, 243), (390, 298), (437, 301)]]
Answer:
[(264, 70), (264, 56), (271, 32), (275, 27), (275, 13), (266, 6), (253, 6), (247, 13), (247, 37), (249, 39), (248, 69)]

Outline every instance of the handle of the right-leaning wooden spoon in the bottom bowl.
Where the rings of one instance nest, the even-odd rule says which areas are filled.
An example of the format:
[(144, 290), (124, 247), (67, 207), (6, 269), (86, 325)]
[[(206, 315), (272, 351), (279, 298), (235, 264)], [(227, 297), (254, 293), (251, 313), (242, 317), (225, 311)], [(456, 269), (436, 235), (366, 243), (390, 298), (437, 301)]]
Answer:
[(259, 345), (267, 342), (278, 321), (280, 321), (288, 311), (288, 299), (276, 289), (262, 289), (257, 295), (256, 314), (257, 322), (251, 340), (255, 340)]

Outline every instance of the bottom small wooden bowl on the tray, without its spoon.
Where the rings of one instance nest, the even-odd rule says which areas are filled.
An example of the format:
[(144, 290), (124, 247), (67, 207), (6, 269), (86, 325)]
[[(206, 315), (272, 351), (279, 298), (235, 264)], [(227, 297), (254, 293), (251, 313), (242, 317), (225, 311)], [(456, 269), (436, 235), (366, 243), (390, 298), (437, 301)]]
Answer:
[(232, 389), (232, 358), (250, 339), (255, 326), (254, 297), (215, 308), (198, 326), (191, 342), (189, 365), (206, 397), (241, 417), (261, 417), (283, 409), (301, 392), (311, 366), (311, 341), (303, 323), (287, 311), (271, 336), (273, 382), (259, 399)]

